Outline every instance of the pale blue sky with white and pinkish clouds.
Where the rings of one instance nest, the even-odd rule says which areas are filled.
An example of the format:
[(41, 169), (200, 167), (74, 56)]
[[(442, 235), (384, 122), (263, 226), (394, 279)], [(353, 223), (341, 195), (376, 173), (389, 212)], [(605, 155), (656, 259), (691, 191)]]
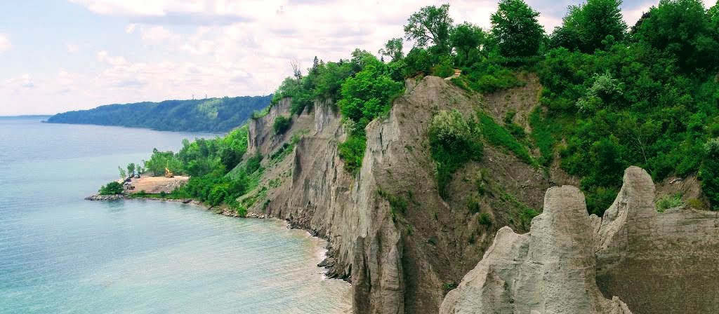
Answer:
[[(526, 0), (547, 32), (574, 0)], [(715, 0), (704, 0), (707, 7)], [(0, 115), (111, 103), (267, 95), (310, 67), (376, 53), (422, 6), (490, 27), (496, 0), (3, 0)], [(656, 1), (627, 0), (633, 25)], [(411, 47), (405, 44), (405, 50)]]

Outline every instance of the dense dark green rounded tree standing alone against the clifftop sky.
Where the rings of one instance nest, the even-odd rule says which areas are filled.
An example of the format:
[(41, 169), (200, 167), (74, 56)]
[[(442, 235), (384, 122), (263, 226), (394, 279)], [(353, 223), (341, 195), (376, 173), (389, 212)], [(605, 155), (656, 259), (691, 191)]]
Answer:
[(490, 17), (492, 34), (505, 57), (531, 57), (539, 53), (544, 29), (537, 22), (539, 12), (523, 0), (502, 0)]

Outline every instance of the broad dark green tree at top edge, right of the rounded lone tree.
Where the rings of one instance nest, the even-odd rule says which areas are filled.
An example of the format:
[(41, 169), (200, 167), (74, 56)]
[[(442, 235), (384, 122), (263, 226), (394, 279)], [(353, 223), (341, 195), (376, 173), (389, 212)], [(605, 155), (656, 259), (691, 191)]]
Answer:
[(586, 4), (569, 6), (562, 26), (551, 34), (551, 46), (591, 53), (620, 42), (627, 29), (621, 4), (621, 0), (587, 0)]

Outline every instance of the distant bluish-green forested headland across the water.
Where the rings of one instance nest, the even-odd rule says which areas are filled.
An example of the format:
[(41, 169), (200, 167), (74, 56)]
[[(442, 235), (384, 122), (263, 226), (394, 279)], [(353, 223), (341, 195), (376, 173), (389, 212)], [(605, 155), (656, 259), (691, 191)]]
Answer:
[(226, 132), (270, 104), (272, 95), (102, 105), (53, 115), (49, 123), (117, 125), (190, 132)]

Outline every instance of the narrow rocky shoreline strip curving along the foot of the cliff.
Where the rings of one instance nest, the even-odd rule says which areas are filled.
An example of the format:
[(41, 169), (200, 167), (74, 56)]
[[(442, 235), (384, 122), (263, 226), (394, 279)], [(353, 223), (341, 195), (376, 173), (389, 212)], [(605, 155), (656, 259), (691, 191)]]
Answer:
[[(233, 218), (240, 218), (240, 219), (275, 219), (277, 221), (283, 222), (285, 224), (285, 227), (287, 229), (296, 229), (296, 230), (303, 230), (307, 232), (307, 234), (310, 237), (320, 239), (324, 244), (319, 244), (318, 249), (313, 252), (313, 255), (316, 257), (319, 257), (319, 262), (316, 264), (316, 267), (324, 269), (323, 272), (321, 272), (322, 279), (336, 279), (336, 280), (342, 280), (344, 282), (349, 283), (352, 285), (352, 281), (350, 280), (350, 277), (340, 277), (336, 271), (334, 270), (335, 266), (335, 258), (331, 254), (331, 247), (329, 246), (329, 239), (326, 239), (326, 237), (322, 237), (317, 232), (314, 232), (312, 229), (308, 229), (306, 227), (302, 227), (300, 224), (294, 224), (293, 222), (290, 222), (289, 219), (282, 219), (278, 217), (274, 217), (272, 215), (268, 214), (260, 214), (255, 213), (252, 211), (247, 211), (247, 214), (244, 217), (239, 217), (236, 211), (232, 211), (231, 209), (227, 207), (213, 207), (208, 206), (207, 204), (204, 204), (201, 201), (198, 201), (196, 199), (160, 199), (157, 197), (128, 197), (126, 194), (114, 194), (114, 195), (99, 195), (95, 194), (92, 196), (88, 196), (85, 198), (87, 201), (119, 201), (119, 200), (135, 200), (135, 199), (142, 199), (142, 200), (151, 200), (151, 201), (172, 201), (175, 203), (182, 203), (182, 204), (191, 204), (194, 206), (198, 206), (201, 209), (205, 211), (213, 211), (215, 214), (222, 215), (224, 217), (233, 217)], [(324, 252), (323, 252), (324, 251)]]

